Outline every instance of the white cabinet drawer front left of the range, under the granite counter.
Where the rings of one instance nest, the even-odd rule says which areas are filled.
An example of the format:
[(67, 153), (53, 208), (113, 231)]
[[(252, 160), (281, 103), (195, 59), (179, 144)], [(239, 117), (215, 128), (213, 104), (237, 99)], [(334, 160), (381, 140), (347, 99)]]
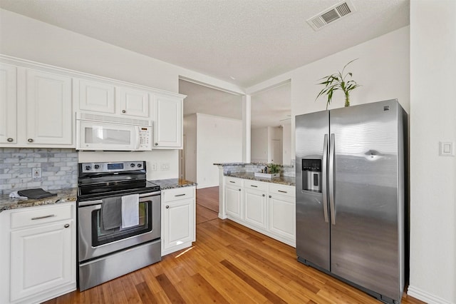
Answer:
[(11, 229), (71, 219), (71, 205), (36, 207), (11, 213)]

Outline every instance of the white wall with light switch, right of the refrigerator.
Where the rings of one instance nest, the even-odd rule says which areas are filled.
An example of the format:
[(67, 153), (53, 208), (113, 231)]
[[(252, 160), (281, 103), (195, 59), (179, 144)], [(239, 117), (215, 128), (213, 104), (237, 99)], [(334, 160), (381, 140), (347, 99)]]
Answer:
[[(456, 303), (456, 1), (410, 1), (410, 287)], [(430, 21), (432, 20), (432, 21)]]

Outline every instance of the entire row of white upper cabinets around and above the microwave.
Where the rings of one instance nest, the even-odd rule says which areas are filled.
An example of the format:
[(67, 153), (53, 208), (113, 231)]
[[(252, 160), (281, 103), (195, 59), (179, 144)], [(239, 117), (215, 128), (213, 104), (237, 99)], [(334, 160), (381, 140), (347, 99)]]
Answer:
[(180, 149), (185, 97), (0, 54), (0, 147), (75, 148), (81, 111), (147, 123), (153, 148)]

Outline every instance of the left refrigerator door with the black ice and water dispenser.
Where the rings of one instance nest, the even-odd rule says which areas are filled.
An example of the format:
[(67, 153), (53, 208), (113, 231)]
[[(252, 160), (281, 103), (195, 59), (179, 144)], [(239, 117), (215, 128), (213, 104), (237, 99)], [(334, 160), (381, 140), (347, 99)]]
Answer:
[(304, 263), (324, 270), (330, 265), (328, 123), (328, 111), (296, 116), (296, 254)]

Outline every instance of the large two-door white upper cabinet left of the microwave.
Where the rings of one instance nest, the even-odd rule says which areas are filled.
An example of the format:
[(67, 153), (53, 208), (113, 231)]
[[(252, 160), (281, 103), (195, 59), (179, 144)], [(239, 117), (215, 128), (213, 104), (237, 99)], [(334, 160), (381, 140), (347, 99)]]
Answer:
[(0, 146), (72, 148), (71, 77), (0, 64)]

